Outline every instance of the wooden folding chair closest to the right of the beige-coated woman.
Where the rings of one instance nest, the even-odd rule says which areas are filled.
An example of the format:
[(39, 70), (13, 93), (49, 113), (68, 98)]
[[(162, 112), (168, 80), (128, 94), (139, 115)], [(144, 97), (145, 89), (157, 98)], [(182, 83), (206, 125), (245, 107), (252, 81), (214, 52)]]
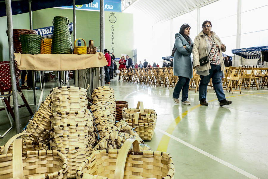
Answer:
[[(225, 77), (223, 78), (223, 89), (231, 92), (239, 91), (241, 94), (241, 67), (229, 67)], [(239, 87), (239, 89), (238, 89)], [(234, 88), (234, 90), (233, 90)]]

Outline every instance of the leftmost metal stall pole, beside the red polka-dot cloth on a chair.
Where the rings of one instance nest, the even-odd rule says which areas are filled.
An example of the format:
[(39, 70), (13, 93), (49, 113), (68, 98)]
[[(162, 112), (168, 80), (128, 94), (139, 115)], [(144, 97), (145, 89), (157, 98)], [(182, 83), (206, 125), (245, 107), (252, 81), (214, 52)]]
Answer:
[(11, 10), (11, 0), (6, 0), (6, 12), (7, 12), (7, 36), (8, 36), (8, 48), (9, 48), (9, 61), (10, 61), (10, 75), (11, 75), (11, 85), (13, 93), (13, 105), (15, 114), (15, 124), (17, 134), (21, 132), (21, 124), (18, 112), (18, 94), (17, 94), (17, 84), (15, 76), (15, 62), (14, 62), (14, 46), (13, 46), (13, 25), (12, 25), (12, 10)]

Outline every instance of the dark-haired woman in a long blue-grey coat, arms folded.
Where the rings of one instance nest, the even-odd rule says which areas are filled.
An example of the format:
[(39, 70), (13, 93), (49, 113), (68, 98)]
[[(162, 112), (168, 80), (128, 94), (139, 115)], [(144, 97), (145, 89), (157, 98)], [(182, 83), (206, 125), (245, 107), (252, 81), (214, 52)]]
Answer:
[(189, 24), (183, 24), (180, 27), (180, 33), (175, 34), (175, 47), (173, 69), (174, 75), (179, 77), (179, 81), (173, 92), (173, 101), (180, 104), (179, 96), (182, 90), (181, 104), (191, 104), (187, 101), (189, 82), (193, 78), (193, 65), (191, 60), (191, 53), (193, 49), (193, 42), (189, 37), (191, 27)]

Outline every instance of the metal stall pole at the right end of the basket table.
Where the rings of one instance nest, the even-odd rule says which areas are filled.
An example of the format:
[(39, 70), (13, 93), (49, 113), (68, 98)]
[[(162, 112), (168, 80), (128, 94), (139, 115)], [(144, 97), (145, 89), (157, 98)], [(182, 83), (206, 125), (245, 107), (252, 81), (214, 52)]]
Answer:
[[(104, 53), (104, 0), (99, 1), (100, 51)], [(104, 86), (104, 67), (100, 68), (101, 86)]]

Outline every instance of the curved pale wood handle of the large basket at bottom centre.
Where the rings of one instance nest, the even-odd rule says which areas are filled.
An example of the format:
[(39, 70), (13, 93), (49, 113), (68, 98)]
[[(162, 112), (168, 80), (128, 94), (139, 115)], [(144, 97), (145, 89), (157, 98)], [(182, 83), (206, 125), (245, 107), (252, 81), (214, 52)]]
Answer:
[(140, 146), (137, 139), (127, 139), (119, 150), (119, 154), (116, 160), (116, 169), (114, 171), (113, 178), (123, 179), (124, 178), (124, 168), (127, 160), (127, 153), (133, 144), (133, 151), (140, 152)]

